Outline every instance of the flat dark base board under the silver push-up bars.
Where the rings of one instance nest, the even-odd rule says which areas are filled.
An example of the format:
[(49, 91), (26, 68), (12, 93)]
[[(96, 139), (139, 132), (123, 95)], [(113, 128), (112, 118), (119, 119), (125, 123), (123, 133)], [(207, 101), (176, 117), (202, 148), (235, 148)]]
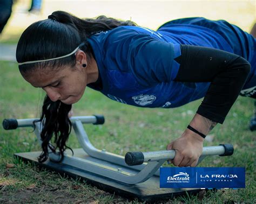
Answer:
[[(83, 159), (88, 159), (92, 161), (97, 161), (99, 164), (109, 165), (111, 167), (120, 168), (120, 166), (107, 163), (106, 161), (102, 161), (100, 159), (92, 158), (88, 156), (82, 149), (73, 149), (74, 156), (80, 157)], [(115, 181), (113, 179), (109, 179), (106, 177), (102, 177), (97, 174), (93, 174), (82, 170), (80, 168), (76, 168), (70, 165), (62, 164), (62, 163), (53, 163), (49, 159), (45, 161), (45, 163), (38, 163), (37, 157), (41, 152), (24, 152), (24, 153), (16, 153), (15, 156), (22, 159), (23, 161), (30, 161), (35, 163), (41, 167), (48, 168), (49, 170), (56, 171), (60, 174), (69, 175), (72, 178), (80, 177), (88, 184), (98, 187), (103, 191), (107, 191), (110, 193), (114, 193), (116, 195), (124, 196), (129, 199), (137, 198), (140, 201), (146, 202), (156, 202), (169, 200), (174, 196), (184, 195), (186, 191), (188, 193), (198, 193), (201, 189), (191, 189), (191, 188), (160, 188), (159, 187), (159, 177), (153, 175), (149, 180), (142, 182), (141, 184), (124, 184), (119, 181)], [(134, 173), (134, 170), (130, 170), (129, 168), (123, 167), (122, 169)]]

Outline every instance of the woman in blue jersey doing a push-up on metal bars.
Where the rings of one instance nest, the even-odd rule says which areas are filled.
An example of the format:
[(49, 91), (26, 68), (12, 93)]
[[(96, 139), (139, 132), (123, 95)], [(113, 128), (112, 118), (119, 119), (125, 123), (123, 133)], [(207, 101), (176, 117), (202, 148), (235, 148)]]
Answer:
[[(157, 31), (100, 16), (79, 19), (63, 11), (30, 25), (16, 58), (23, 78), (43, 88), (43, 152), (63, 156), (71, 131), (68, 113), (86, 86), (138, 107), (175, 108), (204, 97), (178, 139), (175, 166), (196, 166), (205, 136), (239, 94), (256, 97), (255, 39), (224, 20), (173, 20)], [(50, 140), (54, 135), (54, 144)]]

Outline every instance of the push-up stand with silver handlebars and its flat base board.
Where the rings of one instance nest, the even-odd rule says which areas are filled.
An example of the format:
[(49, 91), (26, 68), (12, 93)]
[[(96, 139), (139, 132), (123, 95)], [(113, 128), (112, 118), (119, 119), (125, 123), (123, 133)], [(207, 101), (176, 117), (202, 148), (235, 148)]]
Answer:
[[(4, 119), (5, 130), (12, 130), (21, 127), (33, 127), (30, 119)], [(104, 191), (115, 193), (126, 198), (137, 198), (140, 201), (153, 202), (156, 200), (166, 200), (173, 196), (188, 193), (197, 193), (200, 189), (195, 188), (160, 188), (159, 168), (166, 160), (175, 157), (174, 150), (163, 150), (154, 152), (127, 152), (125, 157), (118, 154), (98, 150), (94, 147), (87, 136), (83, 123), (95, 125), (104, 124), (104, 116), (79, 116), (71, 117), (72, 128), (75, 130), (79, 144), (82, 149), (73, 149), (74, 154), (66, 151), (64, 159), (60, 161), (58, 153), (50, 152), (49, 158), (44, 163), (38, 163), (38, 152), (15, 153), (15, 157), (24, 161), (36, 163), (39, 166), (56, 171), (70, 177), (80, 177)], [(42, 123), (35, 123), (35, 134), (41, 144)], [(231, 156), (233, 146), (231, 144), (221, 144), (203, 148), (203, 153), (198, 164), (207, 156)]]

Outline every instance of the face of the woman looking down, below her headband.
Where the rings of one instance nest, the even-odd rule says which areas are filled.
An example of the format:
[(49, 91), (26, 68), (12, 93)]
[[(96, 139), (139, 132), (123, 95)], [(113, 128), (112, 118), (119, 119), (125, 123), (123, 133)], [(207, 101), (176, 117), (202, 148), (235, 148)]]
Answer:
[(85, 69), (77, 67), (36, 69), (30, 73), (22, 73), (22, 76), (33, 87), (42, 88), (51, 101), (60, 100), (65, 104), (78, 102), (87, 85)]

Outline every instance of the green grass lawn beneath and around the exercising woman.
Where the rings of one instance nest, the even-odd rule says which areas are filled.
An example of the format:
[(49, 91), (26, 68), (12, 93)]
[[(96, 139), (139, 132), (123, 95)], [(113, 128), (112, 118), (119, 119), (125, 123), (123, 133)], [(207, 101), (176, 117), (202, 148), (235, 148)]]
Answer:
[[(26, 83), (17, 64), (0, 61), (0, 121), (4, 118), (38, 117), (44, 97), (42, 90)], [(98, 149), (124, 155), (127, 151), (164, 150), (167, 143), (179, 137), (191, 121), (200, 100), (176, 109), (136, 108), (107, 99), (89, 88), (83, 99), (75, 104), (75, 115), (103, 114), (104, 125), (86, 125), (85, 129)], [(231, 157), (211, 157), (201, 167), (246, 167), (245, 189), (223, 189), (204, 196), (185, 196), (173, 203), (255, 203), (255, 132), (248, 130), (253, 115), (253, 100), (239, 97), (223, 125), (211, 132), (212, 142), (204, 146), (232, 143)], [(128, 202), (103, 192), (80, 180), (63, 178), (58, 174), (39, 170), (14, 159), (15, 152), (39, 151), (32, 129), (5, 131), (0, 128), (0, 203), (42, 202)], [(69, 145), (80, 147), (74, 134)], [(6, 168), (6, 164), (15, 164)], [(134, 201), (137, 202), (137, 201)]]

